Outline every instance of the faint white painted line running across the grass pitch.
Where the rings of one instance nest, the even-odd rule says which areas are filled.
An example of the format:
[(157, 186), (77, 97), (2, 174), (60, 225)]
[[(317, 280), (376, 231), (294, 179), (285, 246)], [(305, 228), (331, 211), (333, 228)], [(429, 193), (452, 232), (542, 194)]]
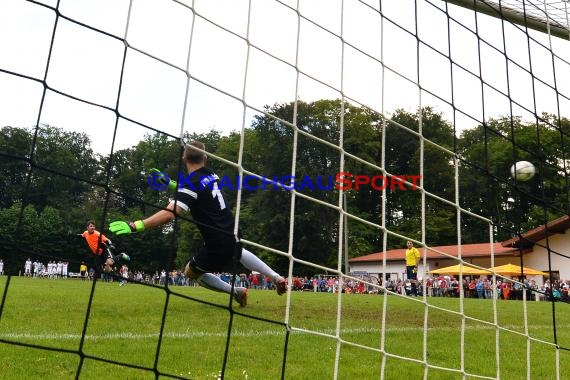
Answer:
[[(520, 326), (502, 326), (503, 328), (508, 329), (516, 329)], [(539, 330), (549, 330), (552, 329), (551, 325), (544, 325), (544, 326), (537, 326), (533, 325), (533, 329)], [(488, 326), (477, 326), (477, 327), (467, 327), (466, 330), (494, 330), (495, 327), (492, 325)], [(361, 328), (345, 328), (341, 329), (341, 335), (344, 334), (371, 334), (371, 333), (380, 333), (381, 329), (378, 328), (371, 328), (371, 327), (361, 327)], [(386, 332), (408, 332), (408, 331), (418, 331), (422, 332), (422, 327), (401, 327), (401, 328), (388, 328)], [(437, 331), (457, 331), (457, 328), (453, 327), (439, 327), (439, 328), (430, 328), (429, 332), (437, 332)], [(291, 334), (307, 334), (307, 333), (317, 333), (317, 334), (326, 334), (334, 336), (336, 334), (334, 329), (327, 329), (327, 330), (305, 330), (305, 329), (298, 329), (294, 328), (291, 331)], [(258, 337), (258, 336), (281, 336), (285, 334), (285, 327), (282, 329), (272, 329), (272, 330), (258, 330), (258, 331), (235, 331), (232, 332), (232, 336), (236, 337)], [(138, 333), (131, 333), (131, 332), (123, 332), (123, 333), (111, 333), (111, 334), (87, 334), (85, 336), (86, 340), (108, 340), (108, 339), (154, 339), (158, 338), (158, 333), (149, 333), (149, 334), (138, 334)], [(164, 333), (162, 335), (165, 338), (173, 338), (173, 339), (188, 339), (188, 338), (215, 338), (215, 337), (225, 337), (227, 336), (226, 332), (200, 332), (200, 331), (187, 331), (187, 332), (179, 332), (179, 333)], [(31, 340), (77, 340), (81, 338), (81, 334), (30, 334), (30, 333), (0, 333), (0, 339), (6, 340), (17, 340), (17, 339), (31, 339)]]

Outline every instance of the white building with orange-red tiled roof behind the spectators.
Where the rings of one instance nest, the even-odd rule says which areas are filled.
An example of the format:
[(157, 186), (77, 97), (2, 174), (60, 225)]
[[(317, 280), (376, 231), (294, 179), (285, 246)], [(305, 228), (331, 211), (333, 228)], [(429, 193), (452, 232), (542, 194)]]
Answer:
[[(418, 276), (423, 277), (432, 270), (458, 264), (459, 253), (465, 263), (482, 268), (504, 264), (516, 264), (526, 268), (550, 273), (554, 279), (570, 279), (570, 217), (565, 215), (546, 225), (539, 226), (522, 235), (497, 243), (446, 245), (438, 247), (416, 247), (422, 257)], [(404, 245), (405, 242), (402, 242)], [(350, 272), (368, 272), (381, 278), (398, 279), (405, 277), (405, 248), (355, 257), (349, 260)], [(491, 261), (493, 253), (494, 261)], [(521, 255), (522, 253), (522, 255)], [(384, 268), (385, 260), (385, 270)], [(424, 265), (425, 260), (425, 265)], [(549, 267), (550, 261), (550, 267)], [(533, 276), (538, 283), (545, 278)]]

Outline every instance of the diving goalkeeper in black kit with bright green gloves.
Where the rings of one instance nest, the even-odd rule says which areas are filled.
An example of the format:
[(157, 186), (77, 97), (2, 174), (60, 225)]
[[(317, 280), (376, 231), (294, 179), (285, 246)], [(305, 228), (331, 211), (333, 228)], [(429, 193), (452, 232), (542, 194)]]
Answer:
[(210, 290), (229, 293), (240, 306), (246, 306), (247, 288), (232, 287), (213, 274), (231, 271), (234, 253), (237, 253), (236, 258), (244, 267), (271, 278), (277, 294), (284, 294), (287, 291), (285, 278), (236, 241), (234, 216), (218, 187), (218, 176), (205, 166), (207, 156), (204, 150), (204, 144), (197, 141), (186, 146), (182, 161), (191, 183), (177, 186), (176, 182), (169, 181), (169, 188), (177, 189), (177, 198), (166, 209), (144, 220), (112, 222), (109, 231), (117, 235), (142, 232), (170, 222), (183, 211), (189, 211), (197, 222), (204, 245), (186, 264), (184, 273), (187, 277)]

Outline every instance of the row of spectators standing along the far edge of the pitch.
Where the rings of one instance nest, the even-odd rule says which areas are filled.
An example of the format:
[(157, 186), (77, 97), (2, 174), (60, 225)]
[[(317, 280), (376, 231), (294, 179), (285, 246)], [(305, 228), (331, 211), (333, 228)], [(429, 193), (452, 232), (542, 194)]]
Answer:
[[(25, 261), (23, 271), (20, 273), (25, 277), (33, 278), (68, 278), (79, 277), (84, 280), (90, 280), (94, 276), (94, 271), (90, 269), (85, 273), (68, 272), (69, 263), (63, 261), (50, 261), (46, 264), (38, 260)], [(3, 274), (4, 263), (0, 259), (0, 275)], [(148, 274), (142, 271), (130, 272), (126, 265), (118, 268), (117, 272), (122, 278), (135, 282), (145, 282), (153, 285), (169, 286), (198, 286), (198, 284), (184, 275), (181, 270), (167, 271), (162, 269), (155, 271), (154, 274)], [(251, 289), (272, 290), (273, 284), (270, 279), (258, 273), (240, 274), (235, 277), (229, 273), (219, 273), (222, 280), (231, 283), (235, 281), (235, 286), (246, 287)], [(104, 276), (103, 280), (113, 281), (112, 276)], [(425, 285), (425, 286), (424, 286)], [(340, 281), (336, 276), (318, 275), (318, 276), (295, 276), (293, 277), (290, 288), (292, 291), (311, 291), (324, 293), (337, 293), (339, 291)], [(397, 279), (382, 281), (376, 277), (367, 277), (361, 280), (345, 279), (342, 282), (343, 293), (354, 294), (382, 294), (384, 289), (392, 293), (398, 293), (408, 296), (422, 296), (424, 289), (428, 297), (459, 297), (460, 290), (463, 289), (463, 295), (466, 298), (481, 298), (513, 300), (523, 299), (523, 291), (526, 291), (527, 300), (555, 300), (562, 302), (570, 302), (570, 280), (555, 280), (551, 284), (546, 280), (542, 285), (538, 285), (533, 279), (523, 279), (522, 281), (514, 281), (509, 279), (498, 279), (496, 291), (493, 290), (491, 279), (482, 276), (481, 278), (464, 277), (460, 286), (459, 279), (454, 276), (438, 276), (426, 277), (417, 282), (417, 292), (412, 290), (412, 282), (410, 280)]]

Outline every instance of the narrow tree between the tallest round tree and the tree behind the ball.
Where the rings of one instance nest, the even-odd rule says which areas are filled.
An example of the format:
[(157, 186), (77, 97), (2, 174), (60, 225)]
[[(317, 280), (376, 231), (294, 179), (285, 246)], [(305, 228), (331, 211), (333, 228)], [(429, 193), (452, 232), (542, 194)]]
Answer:
[[(420, 134), (425, 139), (422, 144)], [(430, 107), (418, 113), (397, 110), (385, 130), (386, 170), (404, 176), (422, 174), (423, 188), (430, 194), (454, 202), (453, 157), (447, 151), (454, 148), (453, 129), (440, 113)], [(420, 168), (423, 167), (423, 173)], [(418, 181), (419, 182), (419, 181)], [(419, 184), (419, 183), (418, 183)], [(387, 194), (387, 225), (400, 234), (420, 240), (422, 238), (421, 205), (419, 191), (391, 191)], [(426, 195), (426, 242), (430, 245), (452, 244), (456, 241), (453, 227), (456, 215), (446, 203)], [(392, 247), (401, 247), (394, 242)]]

